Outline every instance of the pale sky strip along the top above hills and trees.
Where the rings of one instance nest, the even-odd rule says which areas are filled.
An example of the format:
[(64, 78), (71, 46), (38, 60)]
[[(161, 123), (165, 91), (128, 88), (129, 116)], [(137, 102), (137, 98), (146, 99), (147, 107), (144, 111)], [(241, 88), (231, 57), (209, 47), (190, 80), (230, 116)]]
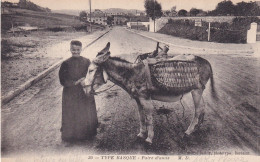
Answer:
[[(19, 0), (1, 0), (9, 2), (18, 2)], [(89, 9), (89, 0), (30, 0), (31, 2), (42, 7), (48, 7), (52, 10), (86, 10)], [(169, 10), (176, 6), (177, 10), (198, 8), (213, 10), (222, 0), (157, 0), (162, 5), (163, 10)], [(253, 0), (232, 0), (234, 4), (237, 2), (249, 2)], [(144, 0), (91, 0), (92, 9), (107, 9), (107, 8), (124, 8), (144, 10)]]

